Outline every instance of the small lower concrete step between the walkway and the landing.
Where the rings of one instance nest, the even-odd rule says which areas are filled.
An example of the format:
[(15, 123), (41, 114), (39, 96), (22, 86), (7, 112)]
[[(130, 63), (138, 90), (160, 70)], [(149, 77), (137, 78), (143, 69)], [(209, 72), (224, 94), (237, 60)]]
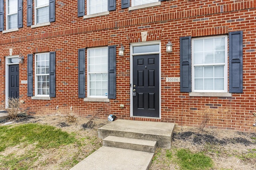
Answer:
[(156, 151), (156, 141), (147, 141), (143, 139), (108, 136), (103, 139), (103, 145), (107, 147), (140, 150), (152, 153)]

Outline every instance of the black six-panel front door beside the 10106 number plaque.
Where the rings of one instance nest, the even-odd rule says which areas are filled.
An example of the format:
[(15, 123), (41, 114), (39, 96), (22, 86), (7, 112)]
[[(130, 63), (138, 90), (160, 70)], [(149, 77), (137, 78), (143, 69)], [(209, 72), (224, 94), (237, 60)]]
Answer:
[(133, 115), (159, 117), (158, 54), (134, 56), (132, 87)]

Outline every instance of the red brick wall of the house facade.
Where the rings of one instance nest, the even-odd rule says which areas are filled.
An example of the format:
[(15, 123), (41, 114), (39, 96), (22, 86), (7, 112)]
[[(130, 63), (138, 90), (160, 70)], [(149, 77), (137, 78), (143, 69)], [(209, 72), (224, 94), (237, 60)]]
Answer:
[[(51, 25), (26, 26), (26, 1), (23, 2), (23, 27), (19, 31), (0, 33), (0, 101), (5, 101), (5, 57), (8, 49), (24, 55), (20, 64), (20, 82), (27, 80), (27, 55), (56, 51), (56, 98), (31, 100), (27, 84), (20, 83), (22, 109), (28, 113), (73, 113), (91, 116), (103, 108), (106, 119), (115, 114), (120, 119), (165, 121), (177, 125), (199, 126), (204, 114), (210, 116), (209, 127), (256, 132), (252, 126), (256, 111), (256, 1), (255, 0), (167, 0), (160, 6), (128, 11), (116, 10), (107, 16), (83, 19), (77, 16), (77, 1), (56, 1), (56, 21)], [(6, 25), (6, 24), (5, 24)], [(179, 82), (166, 82), (166, 77), (180, 76), (180, 42), (183, 36), (225, 35), (243, 31), (242, 94), (232, 97), (191, 97), (180, 92)], [(130, 44), (140, 42), (141, 32), (148, 31), (147, 41), (161, 41), (161, 119), (130, 117)], [(166, 53), (171, 40), (173, 52)], [(78, 49), (120, 44), (125, 56), (116, 59), (116, 99), (110, 102), (84, 102), (78, 98)], [(118, 53), (118, 51), (117, 51)], [(124, 104), (124, 108), (119, 105)], [(56, 110), (56, 106), (59, 110)], [(70, 107), (72, 106), (72, 111)]]

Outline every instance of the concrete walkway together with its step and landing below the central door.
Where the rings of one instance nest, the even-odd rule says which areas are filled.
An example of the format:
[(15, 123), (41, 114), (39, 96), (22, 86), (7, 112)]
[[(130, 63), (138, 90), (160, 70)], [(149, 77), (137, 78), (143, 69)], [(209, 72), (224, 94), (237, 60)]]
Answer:
[(70, 170), (148, 170), (157, 147), (170, 148), (174, 123), (118, 119), (98, 129), (103, 147)]

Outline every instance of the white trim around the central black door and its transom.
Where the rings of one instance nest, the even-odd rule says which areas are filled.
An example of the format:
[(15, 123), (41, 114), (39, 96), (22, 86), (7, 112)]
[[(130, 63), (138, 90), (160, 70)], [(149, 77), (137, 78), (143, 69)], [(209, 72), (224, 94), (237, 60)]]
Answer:
[[(159, 45), (158, 52), (149, 52), (149, 53), (133, 53), (133, 47), (144, 46), (144, 45)], [(150, 55), (150, 54), (159, 54), (159, 117), (145, 117), (145, 118), (154, 118), (161, 119), (161, 41), (148, 41), (141, 43), (130, 43), (130, 117), (143, 117), (143, 116), (134, 116), (133, 115), (133, 56), (136, 55)]]

